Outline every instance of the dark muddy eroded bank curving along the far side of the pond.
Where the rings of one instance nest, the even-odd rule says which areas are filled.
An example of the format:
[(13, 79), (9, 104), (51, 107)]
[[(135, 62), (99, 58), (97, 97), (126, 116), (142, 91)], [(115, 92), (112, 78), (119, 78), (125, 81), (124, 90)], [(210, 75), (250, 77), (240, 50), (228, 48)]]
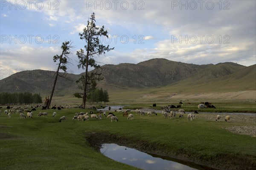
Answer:
[(140, 150), (145, 153), (167, 156), (175, 159), (181, 164), (190, 164), (192, 167), (204, 170), (256, 170), (256, 162), (253, 157), (242, 157), (237, 155), (219, 155), (211, 158), (198, 158), (189, 155), (183, 150), (173, 151), (164, 145), (138, 140), (136, 138), (126, 138), (118, 134), (105, 132), (94, 132), (86, 134), (86, 141), (95, 150), (99, 151), (104, 143), (115, 143)]

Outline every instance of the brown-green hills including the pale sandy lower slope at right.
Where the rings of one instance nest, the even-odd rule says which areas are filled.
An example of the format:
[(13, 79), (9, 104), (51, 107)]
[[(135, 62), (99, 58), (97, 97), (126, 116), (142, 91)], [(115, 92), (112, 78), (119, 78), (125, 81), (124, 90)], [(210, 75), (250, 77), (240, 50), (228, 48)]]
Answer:
[[(107, 89), (111, 101), (163, 101), (213, 98), (215, 100), (254, 100), (256, 65), (226, 62), (195, 65), (155, 58), (138, 64), (102, 66), (99, 87)], [(19, 72), (0, 81), (0, 92), (32, 92), (49, 95), (54, 73), (45, 70)], [(54, 97), (79, 92), (81, 75), (58, 78)], [(237, 94), (237, 95), (236, 95)], [(238, 97), (240, 96), (240, 97)], [(80, 102), (80, 101), (79, 101)]]

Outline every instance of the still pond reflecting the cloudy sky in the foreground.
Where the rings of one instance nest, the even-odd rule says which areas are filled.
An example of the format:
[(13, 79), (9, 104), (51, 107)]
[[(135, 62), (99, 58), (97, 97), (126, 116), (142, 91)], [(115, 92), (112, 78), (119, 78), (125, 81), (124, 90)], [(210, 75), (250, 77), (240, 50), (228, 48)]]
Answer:
[(197, 170), (175, 161), (153, 157), (139, 150), (117, 144), (102, 144), (100, 152), (115, 161), (143, 170)]

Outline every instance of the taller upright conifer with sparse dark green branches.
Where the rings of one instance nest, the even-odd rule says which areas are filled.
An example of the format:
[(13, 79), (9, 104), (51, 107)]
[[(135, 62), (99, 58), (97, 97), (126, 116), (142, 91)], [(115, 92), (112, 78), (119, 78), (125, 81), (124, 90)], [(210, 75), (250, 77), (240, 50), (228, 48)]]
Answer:
[[(77, 83), (80, 81), (82, 82), (82, 86), (79, 88), (84, 90), (83, 93), (76, 93), (74, 96), (83, 98), (83, 103), (81, 104), (81, 107), (83, 108), (85, 108), (86, 99), (88, 98), (89, 93), (96, 88), (96, 81), (103, 80), (101, 73), (98, 71), (100, 66), (96, 63), (94, 57), (102, 54), (104, 55), (106, 52), (114, 49), (109, 48), (109, 45), (104, 46), (101, 43), (101, 37), (108, 38), (108, 31), (104, 30), (104, 26), (99, 28), (95, 23), (95, 13), (93, 12), (90, 15), (90, 19), (87, 21), (87, 26), (83, 29), (82, 33), (79, 33), (80, 39), (85, 40), (85, 50), (80, 49), (78, 52), (76, 52), (76, 55), (79, 58), (78, 68), (85, 69), (85, 75), (82, 75), (81, 78), (76, 81)], [(89, 66), (94, 68), (92, 72), (88, 72)]]

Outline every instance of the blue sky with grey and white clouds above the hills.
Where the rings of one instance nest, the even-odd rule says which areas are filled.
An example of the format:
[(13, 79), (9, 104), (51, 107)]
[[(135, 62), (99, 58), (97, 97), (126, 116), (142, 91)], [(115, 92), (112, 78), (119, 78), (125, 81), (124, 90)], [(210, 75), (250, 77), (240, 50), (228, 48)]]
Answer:
[(115, 47), (96, 58), (101, 65), (152, 58), (256, 63), (255, 0), (1, 0), (0, 5), (1, 79), (22, 70), (56, 69), (52, 58), (61, 54), (65, 40), (75, 46), (68, 71), (84, 72), (77, 68), (76, 51), (85, 45), (79, 32), (92, 12), (110, 35), (102, 43)]

